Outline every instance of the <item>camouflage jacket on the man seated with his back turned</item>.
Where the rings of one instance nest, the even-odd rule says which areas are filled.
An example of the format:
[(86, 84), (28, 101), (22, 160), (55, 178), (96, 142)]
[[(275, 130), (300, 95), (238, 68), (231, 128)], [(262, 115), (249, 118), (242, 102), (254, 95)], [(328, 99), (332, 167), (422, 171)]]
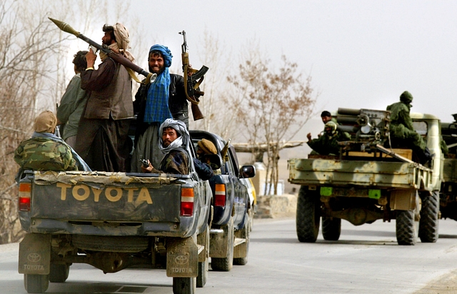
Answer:
[(34, 137), (22, 141), (14, 151), (14, 161), (23, 170), (77, 171), (71, 148), (49, 138)]

